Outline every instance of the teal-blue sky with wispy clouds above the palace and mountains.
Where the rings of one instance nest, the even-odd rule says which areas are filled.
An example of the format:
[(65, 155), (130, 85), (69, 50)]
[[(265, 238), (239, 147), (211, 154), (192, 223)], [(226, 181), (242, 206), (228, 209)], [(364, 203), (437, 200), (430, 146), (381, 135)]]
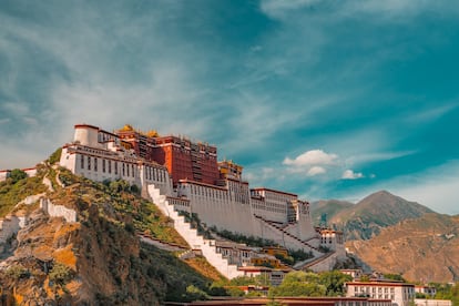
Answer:
[(0, 169), (131, 123), (252, 186), (459, 213), (459, 1), (0, 3)]

